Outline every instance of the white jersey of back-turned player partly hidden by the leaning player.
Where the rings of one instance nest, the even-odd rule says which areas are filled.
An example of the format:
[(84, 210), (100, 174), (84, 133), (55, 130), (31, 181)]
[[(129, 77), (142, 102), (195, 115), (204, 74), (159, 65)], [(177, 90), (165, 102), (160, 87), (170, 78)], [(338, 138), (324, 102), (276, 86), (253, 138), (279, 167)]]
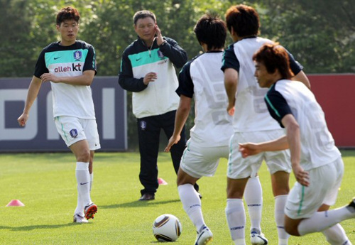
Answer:
[[(231, 45), (224, 54), (222, 70), (231, 67), (238, 71), (233, 119), (235, 132), (280, 129), (268, 114), (263, 99), (268, 89), (259, 87), (254, 77), (255, 65), (252, 57), (264, 43), (272, 43), (272, 41), (258, 37), (244, 38)], [(293, 72), (295, 74), (300, 72), (300, 65), (295, 65), (292, 57), (290, 62), (293, 62), (291, 67), (296, 67)]]

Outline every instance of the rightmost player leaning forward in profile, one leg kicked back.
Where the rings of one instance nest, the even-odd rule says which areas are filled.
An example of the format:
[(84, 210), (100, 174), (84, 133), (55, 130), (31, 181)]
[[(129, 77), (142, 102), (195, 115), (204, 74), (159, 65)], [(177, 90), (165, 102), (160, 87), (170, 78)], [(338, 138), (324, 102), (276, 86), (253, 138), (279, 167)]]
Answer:
[(285, 205), (286, 232), (304, 236), (323, 231), (330, 244), (351, 244), (338, 223), (355, 218), (355, 198), (349, 205), (328, 211), (337, 199), (344, 163), (320, 104), (302, 82), (290, 80), (289, 55), (280, 45), (263, 45), (253, 60), (258, 84), (268, 88), (268, 111), (286, 135), (263, 143), (241, 143), (239, 150), (247, 157), (290, 148), (297, 182)]

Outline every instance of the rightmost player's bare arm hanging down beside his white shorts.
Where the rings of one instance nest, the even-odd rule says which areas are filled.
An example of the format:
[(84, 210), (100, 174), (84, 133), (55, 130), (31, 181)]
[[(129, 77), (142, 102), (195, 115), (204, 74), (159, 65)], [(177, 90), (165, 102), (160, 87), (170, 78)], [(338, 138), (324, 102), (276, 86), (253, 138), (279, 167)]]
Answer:
[(309, 186), (310, 178), (308, 172), (303, 170), (300, 165), (301, 156), (301, 140), (300, 140), (300, 126), (292, 114), (287, 114), (281, 120), (283, 126), (286, 128), (286, 136), (290, 146), (291, 164), (293, 174), (298, 183)]

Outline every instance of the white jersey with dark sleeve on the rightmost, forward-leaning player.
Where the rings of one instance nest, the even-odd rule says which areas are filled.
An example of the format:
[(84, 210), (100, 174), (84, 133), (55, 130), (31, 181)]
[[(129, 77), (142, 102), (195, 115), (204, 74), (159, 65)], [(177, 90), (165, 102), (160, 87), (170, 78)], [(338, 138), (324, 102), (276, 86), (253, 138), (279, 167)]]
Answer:
[(266, 103), (271, 116), (281, 126), (281, 120), (287, 114), (293, 114), (300, 125), (302, 168), (318, 168), (341, 156), (334, 146), (320, 104), (302, 82), (279, 80), (268, 91)]

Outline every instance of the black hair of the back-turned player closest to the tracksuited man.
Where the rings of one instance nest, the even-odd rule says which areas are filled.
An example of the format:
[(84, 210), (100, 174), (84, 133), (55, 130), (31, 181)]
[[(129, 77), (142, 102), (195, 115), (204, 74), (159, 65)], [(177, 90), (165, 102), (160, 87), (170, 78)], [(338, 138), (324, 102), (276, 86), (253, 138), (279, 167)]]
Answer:
[(208, 50), (224, 48), (224, 43), (226, 43), (226, 24), (217, 14), (204, 14), (197, 21), (194, 32), (200, 44), (207, 44)]

